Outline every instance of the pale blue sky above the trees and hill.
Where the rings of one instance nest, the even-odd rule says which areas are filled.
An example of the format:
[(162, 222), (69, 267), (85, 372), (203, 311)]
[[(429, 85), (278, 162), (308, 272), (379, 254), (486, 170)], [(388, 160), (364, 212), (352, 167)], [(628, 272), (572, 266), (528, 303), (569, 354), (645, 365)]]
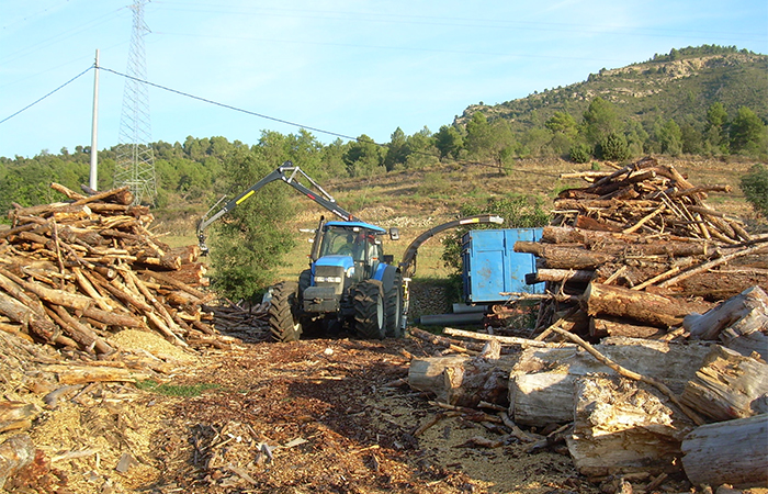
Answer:
[[(89, 67), (98, 48), (101, 67), (127, 74), (132, 1), (0, 0), (0, 156), (90, 145)], [(148, 81), (251, 112), (149, 87), (150, 141), (169, 143), (302, 126), (386, 143), (671, 48), (768, 54), (766, 0), (157, 0), (144, 20)], [(99, 79), (104, 149), (118, 144), (125, 79)]]

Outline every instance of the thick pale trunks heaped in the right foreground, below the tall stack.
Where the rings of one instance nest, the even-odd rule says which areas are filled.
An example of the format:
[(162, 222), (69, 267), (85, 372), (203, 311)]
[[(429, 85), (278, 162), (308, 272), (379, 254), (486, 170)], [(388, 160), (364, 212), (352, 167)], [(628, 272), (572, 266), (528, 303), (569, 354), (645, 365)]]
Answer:
[[(652, 492), (680, 473), (696, 487), (768, 487), (768, 295), (756, 287), (694, 318), (720, 345), (609, 337), (592, 346), (556, 326), (565, 341), (411, 328), (448, 348), (413, 359), (408, 382), (440, 408), (483, 411), (487, 433), (473, 447), (569, 454), (606, 492), (618, 480)], [(757, 329), (732, 339), (739, 326)], [(478, 339), (483, 350), (471, 350)]]

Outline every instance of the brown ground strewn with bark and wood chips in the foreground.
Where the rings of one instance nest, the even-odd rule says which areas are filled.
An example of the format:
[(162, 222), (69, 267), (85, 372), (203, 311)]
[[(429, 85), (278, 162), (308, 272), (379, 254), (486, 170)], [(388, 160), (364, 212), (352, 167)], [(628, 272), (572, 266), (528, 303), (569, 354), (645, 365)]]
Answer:
[(470, 447), (501, 436), (461, 416), (414, 437), (441, 411), (393, 385), (407, 375), (403, 350), (433, 351), (408, 338), (244, 344), (172, 379), (217, 388), (195, 397), (104, 393), (89, 408), (48, 413), (33, 439), (52, 457), (99, 451), (54, 463), (66, 473), (61, 493), (598, 492), (566, 454)]

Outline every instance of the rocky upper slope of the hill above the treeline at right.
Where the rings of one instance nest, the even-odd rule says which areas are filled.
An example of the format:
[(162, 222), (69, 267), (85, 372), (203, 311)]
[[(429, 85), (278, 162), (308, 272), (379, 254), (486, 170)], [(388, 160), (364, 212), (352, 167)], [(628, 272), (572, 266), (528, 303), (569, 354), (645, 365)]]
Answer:
[(455, 123), (465, 123), (476, 111), (489, 119), (509, 120), (515, 130), (540, 126), (556, 111), (568, 112), (578, 120), (596, 97), (641, 122), (658, 117), (703, 121), (714, 102), (721, 102), (730, 115), (739, 106), (748, 106), (767, 121), (767, 75), (766, 55), (711, 46), (684, 48), (645, 63), (602, 69), (590, 74), (586, 81), (527, 98), (496, 105), (471, 105)]

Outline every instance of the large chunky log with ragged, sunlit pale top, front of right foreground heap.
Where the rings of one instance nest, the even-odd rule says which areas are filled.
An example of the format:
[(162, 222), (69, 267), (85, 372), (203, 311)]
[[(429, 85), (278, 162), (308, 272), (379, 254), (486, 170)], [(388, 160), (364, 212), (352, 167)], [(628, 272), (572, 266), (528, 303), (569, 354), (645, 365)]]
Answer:
[(583, 475), (675, 473), (680, 445), (693, 429), (657, 390), (618, 375), (576, 380), (574, 433), (566, 437)]

